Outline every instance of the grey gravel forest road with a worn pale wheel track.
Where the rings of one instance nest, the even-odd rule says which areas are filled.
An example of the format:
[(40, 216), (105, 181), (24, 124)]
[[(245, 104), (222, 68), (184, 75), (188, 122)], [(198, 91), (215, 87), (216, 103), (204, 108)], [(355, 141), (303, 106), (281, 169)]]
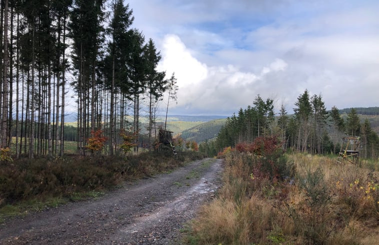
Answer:
[(125, 183), (99, 199), (0, 224), (0, 244), (180, 244), (180, 229), (218, 188), (220, 159)]

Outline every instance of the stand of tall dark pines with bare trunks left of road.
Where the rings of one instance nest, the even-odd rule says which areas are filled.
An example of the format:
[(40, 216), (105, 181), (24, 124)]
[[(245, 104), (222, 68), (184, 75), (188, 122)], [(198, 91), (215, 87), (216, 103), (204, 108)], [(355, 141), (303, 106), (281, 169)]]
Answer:
[(142, 104), (153, 147), (157, 104), (165, 92), (175, 98), (176, 78), (157, 71), (161, 54), (133, 21), (122, 0), (2, 1), (4, 156), (62, 156), (68, 105), (79, 154), (138, 151)]

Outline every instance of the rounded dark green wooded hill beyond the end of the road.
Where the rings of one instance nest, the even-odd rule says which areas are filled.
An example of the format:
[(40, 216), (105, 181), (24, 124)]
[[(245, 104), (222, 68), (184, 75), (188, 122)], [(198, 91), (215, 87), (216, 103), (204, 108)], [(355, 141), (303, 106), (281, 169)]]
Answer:
[(202, 123), (190, 129), (184, 130), (181, 134), (182, 138), (189, 141), (194, 140), (198, 143), (213, 139), (217, 136), (222, 126), (225, 125), (226, 119), (218, 119)]

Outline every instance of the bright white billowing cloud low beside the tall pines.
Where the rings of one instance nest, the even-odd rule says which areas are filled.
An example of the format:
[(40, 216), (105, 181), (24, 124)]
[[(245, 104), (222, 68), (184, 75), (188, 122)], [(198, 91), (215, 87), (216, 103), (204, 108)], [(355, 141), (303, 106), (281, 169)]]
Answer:
[(257, 74), (234, 65), (207, 66), (194, 58), (176, 35), (167, 35), (163, 47), (159, 70), (165, 70), (168, 76), (175, 72), (178, 104), (172, 108), (177, 114), (231, 114), (239, 107), (251, 105), (258, 93), (272, 95), (267, 78), (287, 68), (281, 59), (275, 59)]

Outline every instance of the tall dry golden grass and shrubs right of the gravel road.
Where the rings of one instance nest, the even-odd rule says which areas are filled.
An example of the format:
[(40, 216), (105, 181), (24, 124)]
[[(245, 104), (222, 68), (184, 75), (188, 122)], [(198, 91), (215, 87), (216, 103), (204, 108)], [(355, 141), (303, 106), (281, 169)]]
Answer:
[[(185, 244), (376, 244), (379, 163), (232, 151), (223, 187), (193, 220)], [(272, 171), (273, 170), (273, 171)]]

